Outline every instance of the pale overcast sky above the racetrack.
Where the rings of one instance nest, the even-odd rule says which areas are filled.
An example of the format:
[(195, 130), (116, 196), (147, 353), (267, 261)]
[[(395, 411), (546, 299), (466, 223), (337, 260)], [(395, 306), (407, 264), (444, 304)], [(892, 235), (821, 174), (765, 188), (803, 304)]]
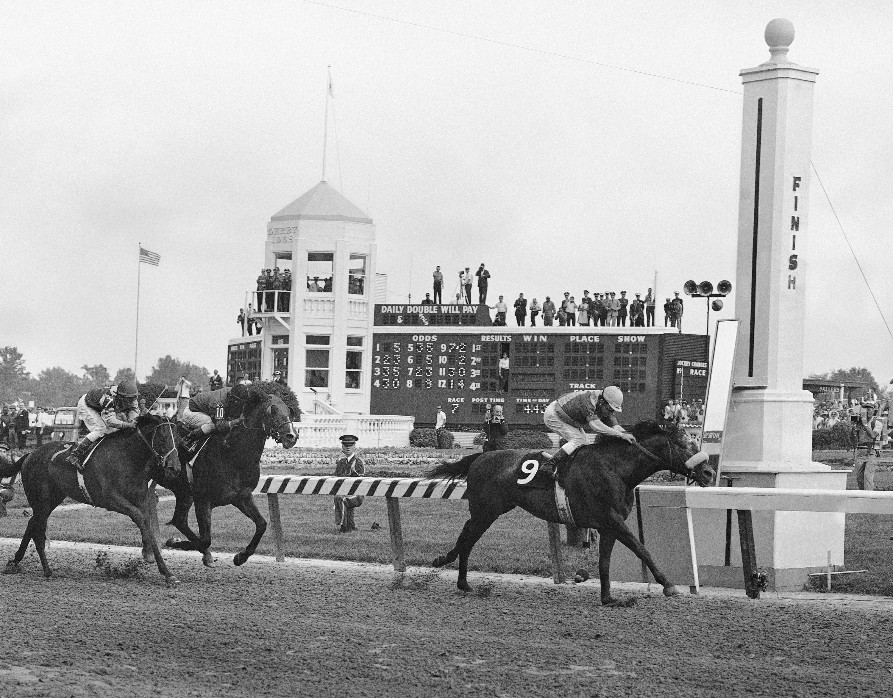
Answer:
[[(733, 91), (789, 18), (790, 59), (821, 71), (813, 162), (893, 321), (889, 3), (336, 4)], [(329, 64), (327, 179), (375, 221), (395, 294), (480, 262), (491, 295), (540, 301), (631, 297), (655, 270), (662, 298), (735, 283), (737, 94), (301, 0), (17, 0), (0, 2), (0, 345), (35, 375), (132, 366), (141, 241), (162, 261), (143, 266), (138, 375), (166, 353), (224, 372), (265, 224), (320, 180)], [(805, 370), (886, 383), (893, 340), (815, 180), (810, 207)], [(703, 331), (705, 302), (686, 310)]]

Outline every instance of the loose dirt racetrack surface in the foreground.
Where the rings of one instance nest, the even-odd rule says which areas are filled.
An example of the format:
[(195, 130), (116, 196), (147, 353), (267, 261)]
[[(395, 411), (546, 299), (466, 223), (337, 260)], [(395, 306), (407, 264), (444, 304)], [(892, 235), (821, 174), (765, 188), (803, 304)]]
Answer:
[[(13, 548), (4, 545), (4, 561)], [(0, 696), (889, 695), (893, 633), (874, 604), (642, 595), (598, 584), (455, 589), (455, 569), (397, 575), (54, 544), (0, 577)], [(472, 586), (479, 585), (482, 577)]]

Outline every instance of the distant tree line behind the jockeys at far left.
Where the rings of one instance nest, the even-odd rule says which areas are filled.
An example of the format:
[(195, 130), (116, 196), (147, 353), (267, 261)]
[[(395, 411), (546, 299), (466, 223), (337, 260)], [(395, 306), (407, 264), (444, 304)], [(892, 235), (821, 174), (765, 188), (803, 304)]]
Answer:
[[(32, 377), (25, 368), (25, 357), (14, 346), (0, 348), (0, 403), (24, 403), (34, 401), (43, 407), (76, 405), (81, 395), (97, 387), (117, 384), (121, 380), (133, 380), (133, 369), (117, 370), (112, 377), (103, 364), (84, 364), (81, 375), (64, 370), (61, 366), (40, 371)], [(185, 376), (193, 386), (207, 389), (209, 371), (189, 361), (174, 359), (171, 354), (161, 357), (152, 367), (143, 383), (174, 386), (180, 376)]]

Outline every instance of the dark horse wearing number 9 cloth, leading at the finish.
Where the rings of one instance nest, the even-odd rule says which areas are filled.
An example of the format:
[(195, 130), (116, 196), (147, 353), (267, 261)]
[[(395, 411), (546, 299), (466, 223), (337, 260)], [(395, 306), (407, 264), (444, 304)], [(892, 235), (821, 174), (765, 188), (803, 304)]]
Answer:
[[(625, 606), (629, 602), (611, 596), (609, 569), (615, 540), (626, 545), (644, 561), (663, 585), (663, 594), (674, 596), (680, 592), (655, 567), (651, 555), (630, 531), (625, 521), (633, 505), (634, 490), (645, 478), (658, 470), (670, 470), (689, 480), (706, 486), (714, 472), (706, 463), (706, 454), (698, 453), (697, 445), (675, 424), (659, 427), (654, 421), (639, 422), (630, 429), (638, 445), (620, 439), (603, 439), (598, 445), (582, 446), (574, 453), (566, 471), (564, 487), (571, 503), (573, 519), (580, 528), (597, 528), (598, 576), (602, 584), (602, 603), (606, 606)], [(459, 557), (458, 586), (465, 592), (468, 586), (468, 555), (480, 536), (506, 511), (520, 506), (539, 519), (560, 522), (552, 489), (533, 489), (519, 486), (516, 469), (522, 451), (490, 451), (472, 453), (461, 461), (442, 462), (429, 473), (429, 478), (465, 478), (467, 481), (468, 510), (472, 518), (465, 523), (455, 548), (434, 561), (442, 567)]]

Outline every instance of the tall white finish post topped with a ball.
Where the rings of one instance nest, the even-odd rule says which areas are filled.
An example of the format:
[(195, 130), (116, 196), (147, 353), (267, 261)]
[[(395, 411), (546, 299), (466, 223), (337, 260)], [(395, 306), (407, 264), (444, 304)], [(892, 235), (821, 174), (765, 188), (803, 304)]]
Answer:
[[(770, 21), (764, 38), (769, 60), (740, 72), (735, 310), (741, 326), (722, 475), (742, 487), (845, 489), (845, 472), (813, 462), (813, 395), (803, 389), (813, 88), (819, 71), (790, 62), (789, 20)], [(697, 513), (702, 583), (741, 586), (737, 530), (725, 523), (724, 512)], [(754, 512), (753, 519), (757, 566), (779, 590), (802, 588), (809, 572), (827, 565), (829, 549), (835, 564), (843, 563), (844, 514), (764, 511)]]

